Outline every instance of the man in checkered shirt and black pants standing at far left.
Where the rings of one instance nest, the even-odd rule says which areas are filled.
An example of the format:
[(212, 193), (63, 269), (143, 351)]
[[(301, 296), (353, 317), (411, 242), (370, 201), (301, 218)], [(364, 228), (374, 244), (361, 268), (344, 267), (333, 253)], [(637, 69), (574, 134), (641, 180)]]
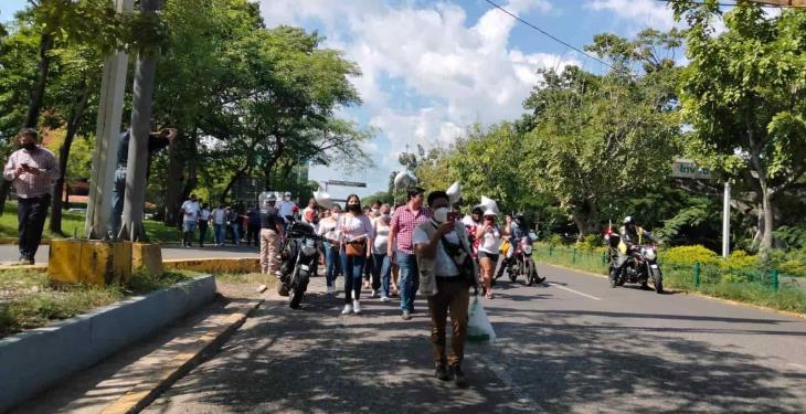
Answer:
[(17, 191), (20, 263), (32, 265), (42, 241), (59, 164), (53, 152), (36, 145), (36, 130), (23, 128), (18, 139), (22, 148), (9, 157), (3, 178), (11, 181)]

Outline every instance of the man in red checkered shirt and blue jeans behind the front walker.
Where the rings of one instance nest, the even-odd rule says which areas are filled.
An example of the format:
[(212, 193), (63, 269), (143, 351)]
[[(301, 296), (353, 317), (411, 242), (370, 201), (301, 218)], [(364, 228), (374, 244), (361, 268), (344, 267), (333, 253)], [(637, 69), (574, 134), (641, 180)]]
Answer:
[[(400, 266), (400, 307), (403, 311), (403, 320), (411, 319), (414, 312), (414, 297), (420, 288), (420, 270), (417, 257), (414, 254), (414, 230), (421, 223), (431, 219), (431, 210), (423, 205), (425, 190), (420, 187), (411, 188), (407, 191), (409, 202), (400, 206), (392, 215), (392, 223), (389, 231), (389, 257), (396, 257)], [(396, 248), (396, 255), (392, 256)]]

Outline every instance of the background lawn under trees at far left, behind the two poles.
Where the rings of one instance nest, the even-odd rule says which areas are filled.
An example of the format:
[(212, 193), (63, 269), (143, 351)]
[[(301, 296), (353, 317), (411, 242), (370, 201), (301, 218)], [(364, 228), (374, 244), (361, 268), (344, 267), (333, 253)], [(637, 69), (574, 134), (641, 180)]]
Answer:
[[(73, 203), (71, 203), (72, 205)], [(162, 224), (162, 222), (156, 222), (151, 220), (144, 221), (146, 226), (146, 233), (153, 243), (169, 243), (179, 242), (182, 238), (181, 231), (177, 227), (169, 227)], [(51, 217), (47, 214), (45, 221), (45, 230), (42, 234), (42, 238), (64, 238), (66, 237), (83, 237), (84, 236), (84, 213), (62, 213), (62, 231), (64, 236), (54, 235), (50, 231)], [(3, 215), (0, 215), (0, 237), (17, 237), (17, 203), (9, 201), (6, 203), (6, 210)]]

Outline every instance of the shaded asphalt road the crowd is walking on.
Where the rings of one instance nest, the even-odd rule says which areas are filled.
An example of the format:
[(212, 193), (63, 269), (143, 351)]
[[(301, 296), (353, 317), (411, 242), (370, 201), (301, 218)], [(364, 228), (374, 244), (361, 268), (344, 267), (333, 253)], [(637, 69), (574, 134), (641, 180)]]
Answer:
[(425, 314), (342, 317), (316, 278), (303, 310), (269, 300), (147, 412), (806, 412), (806, 319), (541, 270), (484, 300), (499, 340), (468, 346), (468, 390), (432, 378)]

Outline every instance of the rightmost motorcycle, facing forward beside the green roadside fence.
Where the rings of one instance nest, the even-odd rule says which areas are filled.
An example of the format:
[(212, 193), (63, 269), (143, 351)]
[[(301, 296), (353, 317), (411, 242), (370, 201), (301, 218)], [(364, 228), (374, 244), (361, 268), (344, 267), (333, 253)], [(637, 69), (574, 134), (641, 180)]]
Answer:
[(649, 280), (655, 285), (657, 294), (664, 293), (664, 275), (658, 265), (658, 251), (655, 244), (634, 245), (627, 252), (629, 255), (622, 272), (618, 272), (618, 244), (621, 235), (608, 231), (605, 241), (609, 246), (609, 284), (611, 287), (622, 286), (625, 283), (640, 284), (643, 288), (648, 287)]

